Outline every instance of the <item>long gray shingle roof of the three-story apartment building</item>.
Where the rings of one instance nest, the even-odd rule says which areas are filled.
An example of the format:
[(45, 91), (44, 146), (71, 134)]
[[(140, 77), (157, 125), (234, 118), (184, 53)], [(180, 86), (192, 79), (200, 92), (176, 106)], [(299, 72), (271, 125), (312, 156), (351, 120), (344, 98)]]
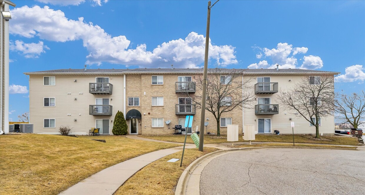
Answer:
[[(230, 71), (233, 69), (220, 69), (221, 71)], [(305, 69), (236, 69), (245, 73), (333, 73), (339, 74), (339, 72), (322, 71), (322, 70), (305, 70)], [(57, 70), (43, 70), (28, 72), (24, 74), (128, 74), (128, 73), (203, 73), (203, 69), (57, 69)]]

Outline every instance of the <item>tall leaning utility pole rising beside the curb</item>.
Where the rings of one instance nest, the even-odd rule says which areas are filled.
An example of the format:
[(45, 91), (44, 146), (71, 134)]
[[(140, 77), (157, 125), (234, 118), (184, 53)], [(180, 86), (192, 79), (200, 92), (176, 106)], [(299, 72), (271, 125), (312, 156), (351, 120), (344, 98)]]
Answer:
[[(219, 0), (218, 0), (219, 1)], [(215, 1), (216, 4), (218, 1)], [(213, 4), (213, 5), (214, 5)], [(211, 1), (208, 1), (207, 33), (205, 35), (205, 55), (204, 55), (204, 73), (203, 73), (203, 94), (201, 95), (201, 115), (200, 115), (200, 137), (199, 151), (203, 152), (204, 144), (204, 121), (205, 121), (205, 96), (207, 95), (207, 74), (208, 74), (208, 51), (209, 51), (209, 28), (210, 28), (210, 9)]]

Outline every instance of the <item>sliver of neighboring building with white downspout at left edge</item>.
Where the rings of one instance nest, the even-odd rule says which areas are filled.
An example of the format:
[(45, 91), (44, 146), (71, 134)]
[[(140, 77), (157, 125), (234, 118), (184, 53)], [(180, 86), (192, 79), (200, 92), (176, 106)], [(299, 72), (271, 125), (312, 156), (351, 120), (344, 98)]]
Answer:
[(0, 0), (0, 134), (9, 133), (9, 5), (15, 4), (9, 0)]

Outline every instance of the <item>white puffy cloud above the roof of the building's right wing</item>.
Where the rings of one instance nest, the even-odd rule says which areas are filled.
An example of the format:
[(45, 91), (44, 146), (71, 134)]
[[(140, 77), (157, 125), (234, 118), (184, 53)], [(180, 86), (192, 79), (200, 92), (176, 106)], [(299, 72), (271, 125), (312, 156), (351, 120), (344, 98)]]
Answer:
[(267, 64), (263, 64), (263, 61), (257, 63), (250, 64), (248, 68), (276, 68), (276, 65), (279, 65), (280, 69), (296, 69), (296, 68), (303, 68), (303, 69), (319, 69), (323, 67), (322, 59), (319, 56), (304, 56), (303, 64), (298, 67), (297, 58), (295, 55), (297, 54), (306, 54), (308, 52), (307, 47), (294, 47), (288, 43), (278, 43), (276, 48), (260, 48), (257, 46), (253, 47), (254, 49), (258, 49), (263, 52), (260, 54), (256, 54), (256, 58), (260, 59), (262, 57), (268, 58), (272, 61), (272, 64), (265, 61)]

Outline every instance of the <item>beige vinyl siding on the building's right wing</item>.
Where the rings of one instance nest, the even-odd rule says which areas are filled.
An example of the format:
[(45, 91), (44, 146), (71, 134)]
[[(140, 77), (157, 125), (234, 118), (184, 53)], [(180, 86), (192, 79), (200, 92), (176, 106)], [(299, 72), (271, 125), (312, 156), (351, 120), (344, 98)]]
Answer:
[[(262, 76), (262, 75), (260, 75)], [(257, 83), (256, 77), (254, 76), (251, 86), (254, 86)], [(244, 79), (248, 79), (250, 76), (244, 76)], [(279, 104), (279, 114), (271, 114), (271, 115), (255, 115), (254, 105), (257, 104), (257, 100), (247, 104), (251, 106), (250, 108), (244, 109), (243, 123), (244, 125), (255, 125), (255, 132), (258, 130), (258, 118), (271, 118), (271, 133), (274, 133), (274, 130), (279, 130), (281, 134), (292, 133), (291, 122), (295, 122), (294, 133), (298, 134), (315, 134), (316, 128), (314, 126), (309, 126), (309, 122), (301, 117), (300, 114), (296, 113), (295, 110), (285, 109), (283, 105), (278, 101), (278, 95), (285, 90), (292, 90), (295, 86), (296, 82), (302, 82), (303, 75), (269, 75), (264, 77), (270, 77), (270, 82), (278, 82), (278, 93), (274, 94), (256, 94), (256, 98), (260, 97), (269, 97), (271, 98), (271, 104)], [(289, 81), (289, 79), (291, 81)], [(309, 81), (308, 81), (309, 82)], [(245, 87), (244, 90), (251, 90), (251, 93), (254, 93), (254, 89), (250, 89), (249, 87)], [(309, 100), (308, 100), (309, 101)], [(292, 118), (292, 120), (289, 120)], [(256, 120), (256, 121), (255, 121)], [(326, 116), (321, 117), (321, 126), (319, 127), (319, 133), (323, 134), (333, 134), (334, 133), (334, 116)]]

